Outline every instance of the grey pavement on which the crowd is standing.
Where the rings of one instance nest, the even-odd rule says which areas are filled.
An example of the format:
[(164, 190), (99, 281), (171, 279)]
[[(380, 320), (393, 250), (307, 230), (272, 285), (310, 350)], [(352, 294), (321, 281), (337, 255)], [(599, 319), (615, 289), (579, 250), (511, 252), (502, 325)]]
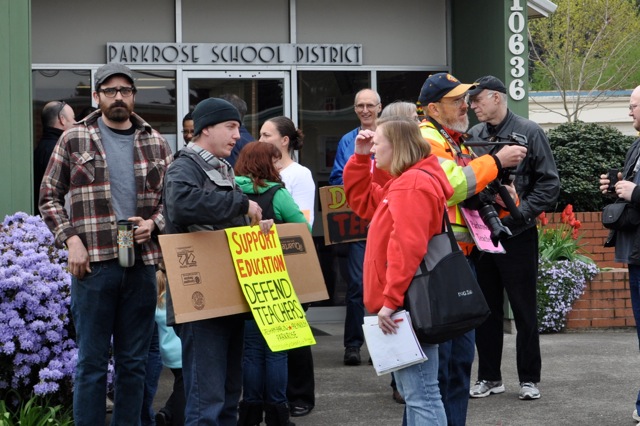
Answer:
[[(320, 308), (316, 308), (320, 309)], [(322, 308), (327, 309), (327, 308)], [(316, 407), (305, 417), (292, 418), (297, 426), (400, 425), (404, 405), (391, 398), (391, 377), (378, 377), (363, 363), (345, 366), (343, 324), (326, 322), (311, 308), (309, 322), (316, 336), (313, 347)], [(634, 426), (631, 414), (640, 388), (640, 356), (635, 330), (564, 332), (540, 336), (542, 397), (518, 399), (515, 334), (505, 334), (502, 360), (506, 392), (471, 399), (469, 426), (593, 425)], [(471, 376), (476, 379), (476, 363)], [(171, 373), (162, 374), (154, 406), (160, 408), (170, 394)], [(425, 425), (427, 426), (427, 425)]]

